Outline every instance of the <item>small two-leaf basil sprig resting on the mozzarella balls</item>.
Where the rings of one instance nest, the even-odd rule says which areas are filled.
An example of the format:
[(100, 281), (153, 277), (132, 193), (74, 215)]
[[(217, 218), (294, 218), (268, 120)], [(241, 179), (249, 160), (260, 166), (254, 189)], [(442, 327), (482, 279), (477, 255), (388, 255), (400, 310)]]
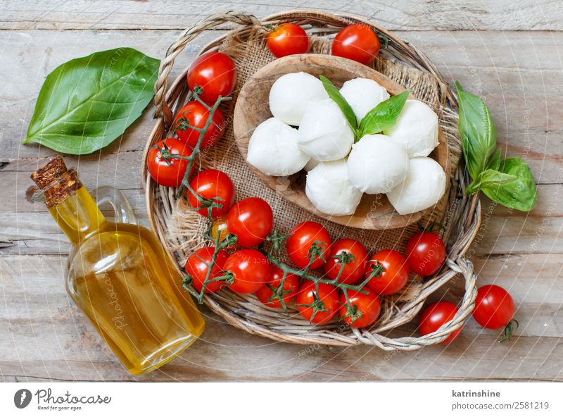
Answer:
[(360, 121), (360, 125), (358, 125), (358, 120), (356, 119), (352, 106), (350, 106), (348, 101), (346, 101), (339, 92), (339, 89), (337, 89), (327, 77), (324, 77), (324, 75), (321, 75), (320, 79), (327, 94), (329, 94), (332, 101), (339, 106), (350, 129), (354, 132), (354, 142), (358, 142), (365, 135), (375, 135), (389, 127), (393, 127), (395, 123), (397, 123), (400, 112), (403, 111), (407, 97), (409, 97), (409, 91), (405, 90), (396, 96), (381, 101), (381, 103), (367, 112)]

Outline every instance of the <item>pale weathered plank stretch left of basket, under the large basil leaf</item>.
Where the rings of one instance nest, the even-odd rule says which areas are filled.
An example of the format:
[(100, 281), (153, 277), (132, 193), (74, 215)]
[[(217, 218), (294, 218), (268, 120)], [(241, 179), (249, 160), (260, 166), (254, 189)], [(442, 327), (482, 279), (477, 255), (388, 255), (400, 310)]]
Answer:
[[(154, 57), (161, 57), (163, 51), (177, 37), (177, 32), (58, 32), (51, 42), (44, 42), (44, 35), (37, 32), (0, 32), (0, 48), (9, 51), (8, 59), (0, 61), (4, 73), (24, 75), (26, 79), (12, 77), (0, 87), (0, 161), (15, 161), (19, 158), (42, 158), (53, 155), (53, 151), (37, 144), (21, 144), (32, 117), (35, 100), (44, 78), (54, 68), (77, 56), (86, 56), (94, 51), (132, 46)], [(205, 34), (201, 42), (213, 39)], [(203, 44), (203, 43), (202, 43)], [(202, 44), (189, 46), (186, 54), (177, 61), (173, 77), (188, 65)], [(152, 111), (149, 107), (129, 129), (122, 139), (116, 139), (103, 149), (103, 154), (144, 149), (146, 137), (152, 130)], [(86, 158), (99, 158), (96, 152)], [(140, 158), (140, 156), (139, 156)], [(88, 159), (87, 159), (88, 160)], [(6, 167), (4, 167), (6, 168)]]

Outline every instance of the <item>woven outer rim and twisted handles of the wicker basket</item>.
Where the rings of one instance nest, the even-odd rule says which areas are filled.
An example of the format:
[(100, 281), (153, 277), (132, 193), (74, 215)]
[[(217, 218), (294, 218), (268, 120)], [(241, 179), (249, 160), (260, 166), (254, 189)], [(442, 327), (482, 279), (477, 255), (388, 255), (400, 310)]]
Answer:
[[(388, 32), (384, 28), (379, 27), (379, 25), (369, 22), (369, 20), (365, 20), (360, 16), (350, 15), (348, 13), (338, 13), (332, 15), (322, 11), (317, 11), (315, 9), (296, 9), (292, 11), (274, 13), (264, 18), (261, 22), (253, 15), (246, 15), (244, 13), (236, 12), (219, 13), (201, 20), (201, 22), (196, 23), (194, 27), (191, 27), (182, 32), (182, 35), (180, 35), (177, 42), (170, 46), (170, 48), (167, 50), (166, 57), (163, 59), (163, 61), (161, 61), (159, 77), (155, 85), (156, 124), (153, 127), (151, 135), (149, 136), (146, 144), (142, 169), (149, 223), (151, 225), (151, 228), (157, 233), (160, 242), (167, 248), (167, 253), (171, 257), (172, 261), (174, 261), (174, 265), (179, 272), (181, 270), (175, 259), (175, 256), (167, 247), (165, 230), (159, 227), (160, 219), (158, 218), (158, 207), (156, 207), (156, 200), (154, 198), (157, 191), (160, 192), (161, 195), (163, 195), (163, 193), (165, 194), (167, 190), (163, 189), (163, 187), (157, 186), (147, 175), (146, 170), (146, 153), (148, 152), (148, 149), (150, 149), (156, 137), (160, 138), (160, 136), (162, 136), (159, 136), (158, 132), (165, 130), (167, 124), (172, 120), (172, 111), (170, 109), (172, 107), (171, 105), (178, 99), (179, 94), (177, 94), (176, 92), (180, 83), (182, 81), (184, 81), (185, 83), (185, 73), (187, 71), (187, 68), (184, 68), (182, 73), (176, 78), (174, 82), (172, 82), (172, 85), (170, 85), (170, 87), (168, 86), (168, 75), (173, 66), (176, 56), (180, 54), (184, 49), (184, 46), (186, 46), (186, 44), (194, 39), (200, 32), (203, 32), (210, 27), (217, 27), (218, 25), (222, 25), (223, 23), (238, 23), (241, 25), (241, 27), (237, 27), (236, 29), (230, 30), (229, 32), (225, 32), (219, 37), (213, 39), (213, 41), (203, 46), (198, 55), (202, 54), (205, 51), (216, 49), (222, 43), (222, 41), (226, 39), (227, 36), (229, 36), (229, 34), (232, 34), (233, 32), (242, 33), (248, 30), (249, 27), (253, 27), (255, 25), (262, 25), (266, 23), (280, 23), (282, 21), (293, 21), (296, 23), (302, 22), (302, 24), (306, 24), (310, 22), (310, 20), (315, 19), (317, 19), (316, 22), (320, 21), (320, 23), (324, 24), (323, 29), (328, 33), (335, 32), (339, 27), (339, 24), (349, 23), (363, 23), (374, 27), (374, 29), (378, 32), (384, 33), (392, 40), (393, 47), (398, 48), (400, 52), (408, 55), (410, 64), (415, 66), (415, 68), (425, 70), (436, 79), (442, 96), (441, 104), (443, 106), (448, 106), (449, 108), (455, 108), (457, 106), (455, 93), (452, 91), (452, 89), (450, 89), (448, 83), (443, 79), (442, 75), (436, 69), (434, 64), (431, 63), (431, 61), (429, 61), (429, 59), (426, 58), (426, 56), (422, 54), (422, 52), (418, 51), (414, 46), (411, 46), (407, 42), (404, 42), (401, 39), (395, 37), (391, 32)], [(329, 23), (332, 23), (334, 27), (329, 27)], [(460, 163), (460, 166), (457, 167), (456, 175), (456, 181), (459, 189), (463, 190), (467, 186), (468, 178), (462, 162)], [(234, 313), (232, 313), (232, 311), (223, 309), (222, 306), (217, 302), (217, 300), (209, 297), (208, 295), (204, 297), (204, 302), (208, 307), (210, 307), (210, 309), (212, 309), (215, 313), (218, 313), (220, 316), (222, 316), (222, 318), (227, 320), (228, 323), (234, 325), (236, 328), (241, 328), (242, 330), (246, 330), (247, 332), (251, 332), (253, 334), (261, 335), (264, 337), (269, 337), (270, 339), (281, 342), (292, 342), (299, 344), (320, 343), (335, 346), (350, 346), (352, 344), (363, 343), (371, 344), (385, 350), (415, 350), (429, 344), (442, 342), (450, 335), (451, 332), (462, 327), (464, 321), (472, 312), (472, 309), (474, 307), (474, 299), (476, 297), (476, 275), (474, 273), (472, 263), (468, 259), (466, 259), (464, 255), (469, 250), (469, 247), (471, 246), (479, 230), (479, 225), (481, 224), (481, 204), (478, 197), (474, 195), (472, 197), (463, 197), (462, 203), (460, 203), (459, 206), (462, 207), (462, 210), (460, 211), (460, 208), (457, 207), (454, 213), (454, 221), (455, 225), (457, 225), (458, 236), (453, 244), (448, 245), (449, 257), (446, 261), (446, 267), (443, 268), (443, 271), (436, 277), (431, 278), (431, 280), (427, 281), (423, 285), (422, 293), (419, 294), (419, 297), (415, 301), (408, 303), (412, 304), (409, 306), (411, 312), (414, 311), (414, 313), (417, 313), (419, 309), (422, 308), (426, 297), (428, 297), (431, 292), (436, 291), (438, 287), (444, 285), (445, 282), (448, 282), (451, 278), (453, 278), (453, 276), (457, 274), (464, 276), (465, 294), (462, 299), (460, 309), (457, 312), (455, 318), (453, 318), (453, 320), (451, 320), (450, 322), (445, 323), (445, 325), (443, 325), (436, 332), (433, 332), (429, 335), (422, 337), (399, 337), (392, 339), (379, 333), (374, 334), (372, 332), (369, 332), (368, 330), (351, 329), (355, 337), (355, 340), (353, 341), (351, 341), (350, 338), (346, 337), (335, 337), (334, 339), (329, 340), (323, 337), (318, 337), (317, 335), (310, 335), (310, 337), (291, 337), (291, 335), (287, 335), (281, 332), (275, 332), (263, 325), (258, 325), (257, 323), (253, 323), (249, 320), (241, 319), (239, 316), (236, 316)], [(165, 210), (166, 209), (170, 210), (170, 207), (165, 207)], [(450, 228), (450, 230), (452, 229), (453, 226), (452, 228)], [(412, 315), (406, 321), (410, 320), (412, 320)], [(393, 328), (395, 328), (396, 326), (397, 325), (393, 325)], [(382, 330), (380, 329), (380, 331)]]

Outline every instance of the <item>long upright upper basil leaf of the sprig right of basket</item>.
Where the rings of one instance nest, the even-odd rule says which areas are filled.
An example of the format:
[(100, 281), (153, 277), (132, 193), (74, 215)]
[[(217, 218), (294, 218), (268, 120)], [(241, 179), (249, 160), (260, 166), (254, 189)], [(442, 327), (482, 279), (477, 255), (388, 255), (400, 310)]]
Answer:
[(459, 82), (457, 101), (460, 104), (460, 136), (469, 175), (475, 180), (488, 166), (489, 156), (497, 144), (497, 131), (485, 102), (465, 92)]

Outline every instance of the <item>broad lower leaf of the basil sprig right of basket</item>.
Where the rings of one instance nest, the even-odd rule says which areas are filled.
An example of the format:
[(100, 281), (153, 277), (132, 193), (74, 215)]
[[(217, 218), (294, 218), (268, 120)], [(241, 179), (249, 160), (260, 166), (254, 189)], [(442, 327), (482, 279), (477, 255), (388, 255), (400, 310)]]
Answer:
[[(483, 172), (486, 173), (489, 170)], [(510, 181), (481, 182), (479, 188), (488, 198), (509, 208), (530, 211), (538, 201), (536, 183), (529, 166), (521, 158), (506, 158), (500, 162), (501, 175), (513, 177)], [(500, 175), (498, 178), (501, 177)]]

